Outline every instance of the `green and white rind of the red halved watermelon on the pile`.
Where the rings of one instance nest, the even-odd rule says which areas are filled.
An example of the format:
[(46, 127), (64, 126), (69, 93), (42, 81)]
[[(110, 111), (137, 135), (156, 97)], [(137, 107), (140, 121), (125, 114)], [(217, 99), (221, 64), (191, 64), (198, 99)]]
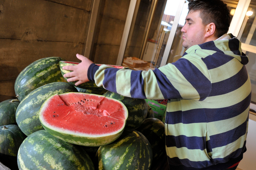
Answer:
[[(76, 95), (76, 93), (65, 93), (65, 94), (59, 94), (59, 95), (61, 96), (61, 95), (68, 95), (68, 94)], [(77, 95), (79, 95), (79, 92), (77, 93)], [(96, 95), (96, 94), (88, 94), (87, 96), (102, 97), (101, 95)], [(54, 97), (54, 96), (52, 96), (52, 97)], [(103, 145), (112, 143), (124, 131), (125, 123), (124, 123), (123, 127), (121, 127), (120, 129), (117, 129), (114, 132), (107, 133), (107, 130), (106, 130), (106, 133), (97, 134), (97, 135), (95, 135), (95, 134), (92, 135), (91, 132), (81, 133), (81, 132), (75, 132), (75, 131), (64, 129), (64, 128), (57, 128), (54, 125), (51, 125), (48, 122), (46, 122), (43, 117), (45, 108), (47, 108), (47, 106), (49, 104), (52, 104), (51, 103), (52, 97), (48, 98), (42, 104), (42, 106), (40, 108), (40, 112), (39, 112), (39, 120), (40, 120), (42, 126), (44, 127), (44, 129), (46, 129), (51, 135), (53, 135), (59, 139), (62, 139), (63, 141), (66, 141), (68, 143), (77, 144), (77, 145), (82, 145), (82, 146), (98, 147), (98, 146), (103, 146)], [(124, 117), (125, 117), (124, 121), (126, 122), (126, 119), (128, 117), (128, 111), (127, 111), (125, 105), (116, 99), (112, 99), (112, 98), (109, 98), (109, 99), (113, 102), (118, 102), (120, 105), (122, 105), (122, 112), (124, 113)], [(109, 104), (111, 104), (111, 103), (109, 103)], [(94, 121), (94, 120), (92, 120), (92, 121)], [(81, 125), (79, 124), (77, 126), (81, 126)], [(81, 126), (81, 128), (82, 128), (82, 126)]]

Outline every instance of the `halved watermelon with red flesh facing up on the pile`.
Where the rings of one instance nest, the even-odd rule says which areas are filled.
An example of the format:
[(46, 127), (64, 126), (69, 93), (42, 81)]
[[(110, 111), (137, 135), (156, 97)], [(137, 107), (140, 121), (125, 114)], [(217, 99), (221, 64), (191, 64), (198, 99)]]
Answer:
[(53, 136), (83, 146), (103, 146), (115, 141), (125, 127), (125, 105), (109, 97), (69, 92), (49, 97), (39, 120)]

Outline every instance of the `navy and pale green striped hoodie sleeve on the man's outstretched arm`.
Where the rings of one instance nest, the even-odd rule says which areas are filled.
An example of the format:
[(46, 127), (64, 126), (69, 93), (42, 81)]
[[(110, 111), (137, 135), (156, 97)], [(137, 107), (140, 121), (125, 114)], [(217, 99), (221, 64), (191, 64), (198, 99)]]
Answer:
[[(191, 61), (190, 61), (191, 60)], [(210, 93), (210, 78), (200, 58), (180, 58), (149, 71), (117, 69), (92, 64), (89, 80), (97, 86), (127, 97), (144, 99), (193, 98), (203, 100)], [(207, 69), (206, 69), (207, 70)]]

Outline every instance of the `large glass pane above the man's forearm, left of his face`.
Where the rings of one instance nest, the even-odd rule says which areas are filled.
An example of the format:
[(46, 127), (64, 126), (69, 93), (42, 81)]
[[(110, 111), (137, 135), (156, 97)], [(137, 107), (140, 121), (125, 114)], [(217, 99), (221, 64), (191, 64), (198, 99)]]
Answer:
[[(137, 2), (123, 65), (135, 70), (154, 69), (160, 66), (179, 1), (138, 0)], [(188, 1), (184, 2), (188, 4)], [(185, 22), (185, 18), (183, 21)]]

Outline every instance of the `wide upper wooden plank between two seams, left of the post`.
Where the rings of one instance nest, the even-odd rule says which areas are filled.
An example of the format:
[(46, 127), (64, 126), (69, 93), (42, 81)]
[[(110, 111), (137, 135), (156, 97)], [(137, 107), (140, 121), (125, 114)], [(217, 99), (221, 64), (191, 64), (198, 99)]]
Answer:
[(2, 0), (0, 38), (84, 43), (90, 12), (44, 0)]

